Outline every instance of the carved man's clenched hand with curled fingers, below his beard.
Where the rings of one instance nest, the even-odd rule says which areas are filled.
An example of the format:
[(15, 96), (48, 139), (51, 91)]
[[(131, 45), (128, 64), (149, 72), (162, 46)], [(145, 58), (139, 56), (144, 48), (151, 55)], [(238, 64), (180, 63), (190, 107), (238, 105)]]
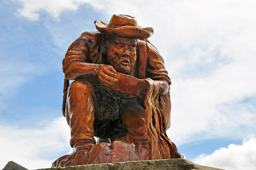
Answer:
[(98, 78), (106, 86), (115, 86), (119, 82), (119, 76), (113, 66), (101, 64), (99, 66)]

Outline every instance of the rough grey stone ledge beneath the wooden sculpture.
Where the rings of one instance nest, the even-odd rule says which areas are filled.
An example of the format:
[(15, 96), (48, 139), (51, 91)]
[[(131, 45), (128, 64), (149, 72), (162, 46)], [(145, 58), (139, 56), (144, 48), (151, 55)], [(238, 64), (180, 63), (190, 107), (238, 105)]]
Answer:
[(115, 164), (90, 164), (40, 170), (221, 170), (195, 164), (186, 159), (161, 159), (154, 161), (116, 162)]

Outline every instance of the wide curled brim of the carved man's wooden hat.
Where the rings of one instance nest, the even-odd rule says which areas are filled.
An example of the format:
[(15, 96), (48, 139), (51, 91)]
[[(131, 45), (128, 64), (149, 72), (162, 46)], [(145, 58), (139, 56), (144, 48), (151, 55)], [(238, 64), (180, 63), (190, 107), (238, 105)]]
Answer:
[(105, 22), (94, 22), (96, 29), (102, 34), (116, 36), (116, 37), (128, 37), (128, 38), (149, 38), (153, 35), (154, 30), (152, 27), (138, 28), (136, 26), (121, 26), (118, 28), (107, 28)]

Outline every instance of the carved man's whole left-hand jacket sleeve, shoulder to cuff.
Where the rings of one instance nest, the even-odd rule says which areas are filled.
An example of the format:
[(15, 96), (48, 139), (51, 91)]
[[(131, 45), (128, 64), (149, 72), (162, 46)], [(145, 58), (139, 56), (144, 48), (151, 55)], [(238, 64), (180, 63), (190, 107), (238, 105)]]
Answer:
[(96, 76), (95, 63), (99, 59), (100, 52), (100, 34), (84, 32), (71, 44), (62, 61), (62, 71), (65, 73), (65, 78), (75, 80)]

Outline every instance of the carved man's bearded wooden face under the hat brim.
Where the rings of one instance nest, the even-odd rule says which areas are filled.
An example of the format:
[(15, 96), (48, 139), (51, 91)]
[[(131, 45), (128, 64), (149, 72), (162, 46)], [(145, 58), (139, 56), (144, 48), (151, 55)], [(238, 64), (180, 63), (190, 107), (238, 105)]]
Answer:
[(134, 38), (108, 37), (107, 59), (108, 63), (117, 72), (131, 75), (136, 63), (137, 41)]

